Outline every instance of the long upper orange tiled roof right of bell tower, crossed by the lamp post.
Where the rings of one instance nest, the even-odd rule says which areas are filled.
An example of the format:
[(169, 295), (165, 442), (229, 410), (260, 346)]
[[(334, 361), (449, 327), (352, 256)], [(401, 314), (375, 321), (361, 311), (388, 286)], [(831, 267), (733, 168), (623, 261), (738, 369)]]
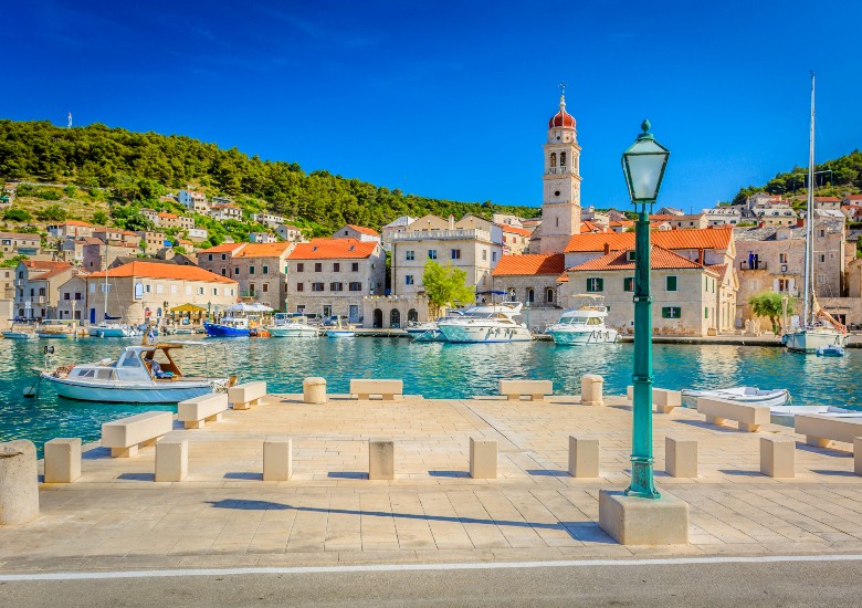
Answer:
[[(691, 230), (667, 230), (653, 232), (653, 244), (664, 249), (727, 249), (733, 241), (733, 227), (693, 228)], [(634, 248), (634, 232), (597, 232), (575, 234), (566, 247), (566, 253), (605, 251), (605, 244), (611, 251)]]

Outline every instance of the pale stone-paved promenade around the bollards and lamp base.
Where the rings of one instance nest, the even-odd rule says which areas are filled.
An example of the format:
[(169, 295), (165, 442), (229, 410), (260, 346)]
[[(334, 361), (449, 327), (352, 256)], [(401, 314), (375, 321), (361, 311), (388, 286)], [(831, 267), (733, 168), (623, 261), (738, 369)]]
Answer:
[[(171, 434), (189, 440), (182, 482), (153, 481), (151, 447), (130, 459), (85, 447), (80, 481), (42, 484), (39, 518), (0, 526), (0, 572), (862, 552), (849, 444), (811, 448), (774, 424), (714, 427), (682, 408), (656, 413), (654, 431), (659, 490), (691, 505), (685, 546), (621, 546), (597, 525), (599, 490), (629, 481), (623, 397), (313, 406), (293, 395), (200, 430), (175, 422)], [(600, 478), (568, 475), (569, 434), (600, 440)], [(669, 434), (698, 441), (696, 479), (663, 472)], [(770, 434), (797, 440), (796, 478), (759, 473)], [(293, 438), (291, 481), (262, 481), (270, 436)], [(471, 437), (497, 440), (498, 479), (470, 479)], [(367, 479), (371, 438), (395, 440), (395, 481)]]

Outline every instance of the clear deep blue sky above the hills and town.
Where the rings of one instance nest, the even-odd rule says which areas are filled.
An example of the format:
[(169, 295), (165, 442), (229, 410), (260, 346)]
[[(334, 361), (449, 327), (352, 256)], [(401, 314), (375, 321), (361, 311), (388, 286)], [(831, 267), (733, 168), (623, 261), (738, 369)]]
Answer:
[(649, 117), (659, 202), (700, 209), (862, 141), (862, 3), (35, 1), (3, 9), (0, 117), (185, 134), (407, 192), (542, 202), (557, 84), (582, 203), (627, 205)]

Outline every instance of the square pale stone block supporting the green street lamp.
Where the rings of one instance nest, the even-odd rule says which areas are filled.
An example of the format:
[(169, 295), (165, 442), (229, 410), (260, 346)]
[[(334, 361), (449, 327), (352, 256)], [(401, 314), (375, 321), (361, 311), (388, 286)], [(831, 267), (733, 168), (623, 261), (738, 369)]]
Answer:
[(621, 545), (688, 543), (688, 503), (665, 493), (661, 499), (599, 492), (599, 527)]

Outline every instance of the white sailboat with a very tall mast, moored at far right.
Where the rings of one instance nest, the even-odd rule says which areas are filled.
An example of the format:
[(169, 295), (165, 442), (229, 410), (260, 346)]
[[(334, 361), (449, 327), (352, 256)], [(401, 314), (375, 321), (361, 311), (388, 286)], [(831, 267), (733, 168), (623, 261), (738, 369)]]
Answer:
[[(811, 129), (808, 148), (808, 184), (814, 181), (814, 74), (811, 73)], [(814, 293), (814, 188), (808, 189), (806, 220), (806, 260), (805, 260), (805, 310), (802, 324), (788, 332), (781, 338), (787, 349), (793, 353), (818, 353), (827, 346), (838, 346), (843, 350), (848, 338), (847, 327), (823, 311)], [(818, 353), (819, 354), (819, 353)]]

